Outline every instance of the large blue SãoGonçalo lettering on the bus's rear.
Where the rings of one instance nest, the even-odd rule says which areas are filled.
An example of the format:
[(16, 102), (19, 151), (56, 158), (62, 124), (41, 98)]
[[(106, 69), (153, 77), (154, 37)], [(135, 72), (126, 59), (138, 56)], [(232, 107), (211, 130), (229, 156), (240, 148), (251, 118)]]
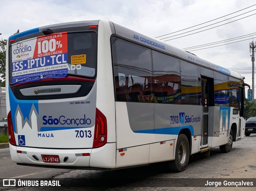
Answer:
[(65, 116), (60, 116), (59, 118), (52, 118), (52, 116), (43, 116), (44, 125), (90, 125), (90, 118), (86, 118), (85, 114), (83, 118), (66, 118)]

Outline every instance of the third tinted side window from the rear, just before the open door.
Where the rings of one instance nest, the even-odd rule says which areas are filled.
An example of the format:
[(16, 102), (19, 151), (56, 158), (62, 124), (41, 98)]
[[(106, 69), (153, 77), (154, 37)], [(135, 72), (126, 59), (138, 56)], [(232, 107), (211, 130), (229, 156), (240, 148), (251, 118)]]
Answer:
[(182, 104), (201, 105), (202, 88), (200, 67), (180, 61)]

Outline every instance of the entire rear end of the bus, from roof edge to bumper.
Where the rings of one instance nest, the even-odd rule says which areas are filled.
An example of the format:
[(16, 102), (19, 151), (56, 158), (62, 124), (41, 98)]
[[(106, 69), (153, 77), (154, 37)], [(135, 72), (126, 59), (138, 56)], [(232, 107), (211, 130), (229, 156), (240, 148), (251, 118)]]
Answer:
[(114, 113), (114, 95), (104, 100), (110, 105), (102, 104), (104, 96), (114, 94), (101, 85), (112, 79), (112, 69), (104, 69), (111, 67), (106, 26), (101, 21), (58, 24), (8, 39), (6, 101), (14, 162), (115, 167), (115, 124), (107, 120)]

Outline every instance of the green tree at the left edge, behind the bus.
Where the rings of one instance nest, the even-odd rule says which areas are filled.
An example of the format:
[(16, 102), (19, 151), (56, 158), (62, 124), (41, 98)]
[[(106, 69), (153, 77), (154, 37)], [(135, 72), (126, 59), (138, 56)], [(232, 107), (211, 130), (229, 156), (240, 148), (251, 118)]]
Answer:
[[(18, 33), (20, 33), (20, 30), (17, 30), (13, 35)], [(2, 34), (0, 33), (0, 35)], [(0, 86), (5, 86), (6, 43), (7, 39), (0, 40), (0, 77), (3, 79), (3, 81), (0, 79)]]

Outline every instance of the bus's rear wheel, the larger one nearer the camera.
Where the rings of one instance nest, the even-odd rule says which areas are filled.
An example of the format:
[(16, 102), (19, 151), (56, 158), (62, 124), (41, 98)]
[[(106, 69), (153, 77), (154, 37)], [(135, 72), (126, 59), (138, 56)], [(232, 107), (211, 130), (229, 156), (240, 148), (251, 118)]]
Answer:
[(174, 161), (168, 162), (168, 166), (172, 171), (182, 172), (186, 169), (189, 159), (189, 144), (188, 138), (184, 134), (179, 134)]

